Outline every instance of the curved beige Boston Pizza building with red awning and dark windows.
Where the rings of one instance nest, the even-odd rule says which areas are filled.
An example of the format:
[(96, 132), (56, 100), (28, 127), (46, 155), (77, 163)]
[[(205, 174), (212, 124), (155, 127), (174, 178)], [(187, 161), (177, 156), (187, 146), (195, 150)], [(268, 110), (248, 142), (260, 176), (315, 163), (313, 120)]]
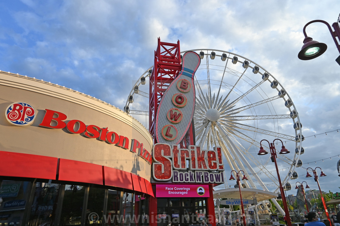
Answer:
[(149, 225), (152, 138), (76, 90), (0, 72), (0, 225)]

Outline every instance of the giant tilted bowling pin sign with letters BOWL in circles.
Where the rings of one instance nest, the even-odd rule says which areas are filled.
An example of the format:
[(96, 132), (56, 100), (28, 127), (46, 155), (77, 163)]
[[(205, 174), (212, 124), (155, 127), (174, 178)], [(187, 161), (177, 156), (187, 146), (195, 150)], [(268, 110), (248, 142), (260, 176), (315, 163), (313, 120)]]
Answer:
[(156, 139), (158, 143), (177, 145), (188, 131), (195, 110), (193, 77), (201, 63), (195, 52), (186, 52), (182, 69), (160, 100), (156, 114)]

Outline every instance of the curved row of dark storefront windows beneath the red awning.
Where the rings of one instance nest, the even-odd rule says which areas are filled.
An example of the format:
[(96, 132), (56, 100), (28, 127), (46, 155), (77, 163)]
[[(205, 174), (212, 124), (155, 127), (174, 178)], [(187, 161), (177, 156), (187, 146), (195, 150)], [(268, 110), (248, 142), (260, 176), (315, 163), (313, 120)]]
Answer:
[(0, 226), (149, 225), (148, 198), (138, 192), (93, 184), (8, 179), (0, 178)]

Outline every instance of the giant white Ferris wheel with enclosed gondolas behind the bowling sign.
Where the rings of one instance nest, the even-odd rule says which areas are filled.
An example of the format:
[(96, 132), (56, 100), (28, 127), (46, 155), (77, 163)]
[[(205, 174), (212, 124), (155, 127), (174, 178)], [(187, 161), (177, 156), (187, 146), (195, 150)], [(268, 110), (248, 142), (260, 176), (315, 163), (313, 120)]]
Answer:
[[(196, 145), (204, 149), (222, 147), (225, 174), (233, 169), (243, 170), (249, 179), (243, 187), (277, 193), (279, 183), (270, 155), (257, 154), (262, 139), (270, 143), (280, 139), (290, 153), (277, 153), (277, 164), (282, 184), (285, 190), (290, 190), (288, 181), (297, 178), (295, 167), (302, 165), (300, 155), (304, 153), (304, 137), (299, 114), (287, 90), (268, 70), (240, 55), (216, 49), (187, 51), (194, 51), (201, 58), (194, 77)], [(147, 128), (152, 68), (147, 68), (139, 77), (124, 107), (126, 113), (132, 114)], [(279, 152), (281, 142), (274, 143)], [(262, 146), (269, 151), (268, 143), (262, 142)]]

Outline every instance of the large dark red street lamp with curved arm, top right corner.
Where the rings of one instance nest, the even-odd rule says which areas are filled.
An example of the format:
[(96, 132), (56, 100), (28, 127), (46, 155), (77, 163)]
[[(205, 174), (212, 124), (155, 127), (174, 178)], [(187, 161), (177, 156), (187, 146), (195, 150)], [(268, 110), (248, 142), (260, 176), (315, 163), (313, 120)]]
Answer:
[[(300, 60), (311, 60), (314, 59), (316, 57), (319, 57), (321, 54), (323, 54), (326, 49), (327, 49), (327, 45), (325, 43), (321, 43), (321, 42), (317, 42), (317, 41), (313, 41), (313, 39), (311, 37), (308, 37), (306, 34), (306, 27), (311, 24), (311, 23), (315, 23), (315, 22), (321, 22), (327, 25), (329, 32), (335, 42), (335, 45), (338, 48), (338, 51), (340, 53), (340, 45), (338, 44), (338, 41), (336, 40), (335, 37), (338, 37), (339, 41), (340, 41), (340, 27), (338, 25), (337, 22), (333, 23), (332, 26), (334, 28), (335, 31), (332, 30), (332, 28), (330, 27), (329, 23), (327, 23), (324, 20), (312, 20), (310, 22), (308, 22), (304, 27), (303, 27), (303, 34), (305, 35), (305, 39), (303, 40), (303, 46), (299, 52), (299, 54), (297, 55), (297, 57)], [(335, 60), (339, 65), (340, 65), (340, 56)]]

